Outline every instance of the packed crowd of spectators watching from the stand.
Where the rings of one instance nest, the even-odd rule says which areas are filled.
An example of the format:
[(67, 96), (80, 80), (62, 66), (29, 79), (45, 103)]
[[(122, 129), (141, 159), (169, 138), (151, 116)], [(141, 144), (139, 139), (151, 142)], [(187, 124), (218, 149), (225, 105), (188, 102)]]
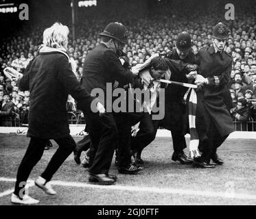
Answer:
[[(251, 5), (243, 5), (235, 14), (235, 21), (223, 21), (230, 28), (225, 51), (233, 57), (233, 70), (229, 89), (233, 99), (231, 114), (234, 120), (248, 120), (256, 110), (256, 17), (248, 10)], [(198, 6), (199, 7), (199, 6)], [(175, 47), (176, 38), (181, 31), (191, 34), (194, 54), (202, 47), (211, 44), (211, 27), (220, 22), (223, 14), (213, 12), (213, 8), (189, 13), (187, 10), (168, 10), (147, 18), (115, 18), (128, 27), (128, 44), (124, 47), (130, 65), (143, 63), (154, 53), (167, 53)], [(218, 10), (218, 9), (216, 9)], [(189, 14), (188, 14), (189, 13)], [(78, 38), (70, 38), (68, 53), (77, 64), (76, 77), (80, 80), (86, 55), (100, 42), (98, 35), (108, 23), (106, 19), (87, 20), (78, 26)], [(30, 27), (1, 39), (0, 44), (0, 121), (3, 117), (15, 116), (27, 123), (27, 110), (30, 93), (20, 92), (16, 81), (3, 74), (3, 68), (10, 66), (23, 73), (27, 64), (38, 54), (45, 27)], [(10, 102), (10, 103), (9, 103)], [(237, 109), (242, 105), (248, 109)], [(68, 110), (77, 111), (74, 101), (69, 99)], [(256, 118), (255, 118), (256, 119)], [(6, 125), (6, 124), (0, 124)]]

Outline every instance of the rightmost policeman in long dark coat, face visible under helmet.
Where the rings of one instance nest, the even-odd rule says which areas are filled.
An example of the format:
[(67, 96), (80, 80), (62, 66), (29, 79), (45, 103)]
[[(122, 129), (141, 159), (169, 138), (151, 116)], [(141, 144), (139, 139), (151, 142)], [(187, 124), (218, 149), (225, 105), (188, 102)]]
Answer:
[(196, 55), (200, 75), (196, 76), (195, 82), (201, 86), (197, 90), (196, 130), (202, 156), (194, 159), (194, 166), (199, 168), (215, 167), (210, 164), (210, 160), (223, 164), (217, 155), (217, 149), (234, 131), (223, 97), (232, 68), (232, 57), (224, 51), (227, 36), (227, 27), (218, 23), (213, 27), (211, 47), (200, 49)]

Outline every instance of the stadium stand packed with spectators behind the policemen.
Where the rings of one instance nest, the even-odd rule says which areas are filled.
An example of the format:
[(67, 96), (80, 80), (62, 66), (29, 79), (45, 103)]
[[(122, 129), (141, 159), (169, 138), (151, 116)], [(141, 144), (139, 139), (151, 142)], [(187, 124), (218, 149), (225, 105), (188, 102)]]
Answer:
[[(184, 1), (181, 1), (181, 3)], [(124, 52), (128, 55), (130, 64), (135, 65), (145, 62), (154, 53), (167, 53), (174, 48), (178, 33), (188, 31), (193, 41), (193, 51), (198, 53), (202, 47), (211, 44), (211, 27), (224, 20), (224, 5), (222, 1), (211, 1), (206, 5), (196, 5), (189, 1), (185, 5), (164, 1), (159, 7), (154, 8), (154, 14), (148, 13), (146, 17), (124, 16), (124, 14), (108, 14), (108, 18), (87, 18), (80, 16), (78, 37), (70, 38), (68, 53), (77, 64), (76, 77), (81, 78), (83, 62), (91, 49), (100, 42), (98, 35), (108, 21), (120, 21), (128, 26), (128, 44)], [(226, 53), (233, 58), (230, 88), (235, 90), (233, 102), (246, 98), (248, 101), (248, 120), (241, 122), (234, 120), (237, 130), (256, 131), (256, 17), (255, 4), (251, 1), (235, 1), (240, 10), (235, 14), (234, 21), (223, 21), (229, 26)], [(192, 10), (193, 9), (193, 10)], [(246, 21), (246, 22), (245, 22)], [(20, 126), (27, 123), (27, 111), (30, 105), (29, 92), (21, 92), (15, 81), (7, 79), (3, 68), (10, 66), (21, 73), (27, 64), (38, 54), (38, 46), (42, 43), (43, 29), (48, 23), (41, 25), (25, 26), (19, 31), (14, 31), (10, 36), (1, 38), (0, 42), (0, 111), (5, 105), (4, 94), (10, 94), (13, 103), (12, 114), (1, 115), (0, 126)], [(49, 24), (50, 25), (50, 24)], [(69, 23), (69, 28), (71, 25)], [(235, 86), (237, 78), (235, 73), (241, 75), (241, 88)], [(240, 83), (238, 83), (240, 84)], [(251, 95), (246, 94), (246, 92)], [(67, 103), (71, 124), (83, 124), (81, 112), (73, 102)]]

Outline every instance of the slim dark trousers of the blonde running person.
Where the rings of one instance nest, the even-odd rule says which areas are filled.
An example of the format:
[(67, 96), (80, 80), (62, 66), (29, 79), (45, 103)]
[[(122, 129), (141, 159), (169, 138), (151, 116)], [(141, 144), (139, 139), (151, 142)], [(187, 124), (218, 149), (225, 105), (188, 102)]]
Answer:
[[(75, 141), (71, 136), (67, 136), (65, 138), (54, 139), (56, 143), (59, 145), (56, 153), (51, 157), (47, 168), (42, 173), (41, 177), (46, 179), (46, 181), (50, 181), (51, 177), (53, 177), (54, 173), (60, 168), (61, 164), (65, 162), (65, 159), (69, 157), (72, 153), (73, 149), (75, 149)], [(25, 191), (25, 182), (27, 178), (30, 176), (30, 172), (36, 166), (38, 161), (43, 156), (43, 152), (45, 150), (45, 144), (49, 140), (43, 138), (31, 138), (30, 144), (27, 147), (27, 151), (21, 161), (19, 166), (17, 176), (16, 176), (16, 184), (14, 194), (17, 196), (21, 196), (20, 191)]]

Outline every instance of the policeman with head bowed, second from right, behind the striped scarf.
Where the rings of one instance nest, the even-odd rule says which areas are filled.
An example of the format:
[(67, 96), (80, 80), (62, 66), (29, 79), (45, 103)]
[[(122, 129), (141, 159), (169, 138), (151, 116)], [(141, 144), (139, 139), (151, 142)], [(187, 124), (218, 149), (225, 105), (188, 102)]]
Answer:
[[(185, 63), (189, 63), (189, 71), (196, 70), (196, 58), (191, 49), (191, 38), (187, 32), (183, 31), (181, 34), (178, 34), (176, 48), (167, 55), (167, 58), (170, 60), (182, 60)], [(172, 70), (170, 80), (188, 83), (196, 75), (193, 72), (187, 73)], [(185, 123), (188, 120), (185, 119), (186, 110), (185, 104), (183, 103), (183, 96), (186, 90), (187, 88), (175, 84), (169, 84), (167, 86), (165, 89), (165, 118), (161, 126), (172, 132), (174, 146), (172, 160), (181, 162), (181, 164), (192, 164), (192, 160), (183, 151), (187, 147), (185, 141)]]

